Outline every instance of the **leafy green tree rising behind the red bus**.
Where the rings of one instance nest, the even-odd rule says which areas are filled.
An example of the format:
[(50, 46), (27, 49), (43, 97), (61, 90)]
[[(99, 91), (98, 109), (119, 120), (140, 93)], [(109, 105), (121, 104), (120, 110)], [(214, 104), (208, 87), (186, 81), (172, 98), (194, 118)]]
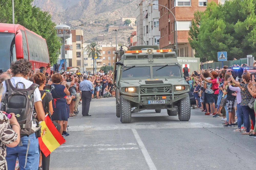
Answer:
[[(57, 37), (55, 26), (51, 21), (51, 15), (46, 11), (41, 11), (38, 7), (33, 7), (33, 0), (14, 1), (14, 18), (15, 24), (23, 25), (25, 28), (34, 31), (46, 39), (50, 62), (56, 63), (59, 57), (61, 46), (60, 38)], [(6, 3), (0, 0), (0, 8)], [(8, 1), (0, 10), (0, 22), (12, 23), (12, 1)]]

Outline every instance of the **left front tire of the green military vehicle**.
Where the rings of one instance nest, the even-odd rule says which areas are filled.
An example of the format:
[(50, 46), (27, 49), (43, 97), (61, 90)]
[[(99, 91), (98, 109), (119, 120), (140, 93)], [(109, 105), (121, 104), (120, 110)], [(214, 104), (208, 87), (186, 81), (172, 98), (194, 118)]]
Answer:
[(131, 103), (129, 100), (120, 96), (120, 122), (131, 123), (132, 120), (132, 110)]

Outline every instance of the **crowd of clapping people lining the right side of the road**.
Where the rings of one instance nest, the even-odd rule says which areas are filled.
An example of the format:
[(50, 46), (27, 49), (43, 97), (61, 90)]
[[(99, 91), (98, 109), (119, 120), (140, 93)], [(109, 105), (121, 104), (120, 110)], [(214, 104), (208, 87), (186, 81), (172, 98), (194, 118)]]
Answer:
[(237, 127), (233, 132), (256, 138), (255, 75), (245, 67), (194, 71), (186, 77), (190, 85), (190, 103), (205, 115), (222, 117), (223, 127)]

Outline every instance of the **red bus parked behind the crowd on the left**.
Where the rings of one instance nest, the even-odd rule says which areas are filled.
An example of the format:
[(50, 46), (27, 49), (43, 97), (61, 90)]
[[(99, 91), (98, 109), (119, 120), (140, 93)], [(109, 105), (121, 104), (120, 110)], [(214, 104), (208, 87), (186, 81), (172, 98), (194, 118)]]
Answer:
[(45, 39), (22, 25), (0, 23), (0, 70), (5, 72), (11, 62), (23, 58), (32, 63), (34, 71), (46, 67), (49, 52)]

